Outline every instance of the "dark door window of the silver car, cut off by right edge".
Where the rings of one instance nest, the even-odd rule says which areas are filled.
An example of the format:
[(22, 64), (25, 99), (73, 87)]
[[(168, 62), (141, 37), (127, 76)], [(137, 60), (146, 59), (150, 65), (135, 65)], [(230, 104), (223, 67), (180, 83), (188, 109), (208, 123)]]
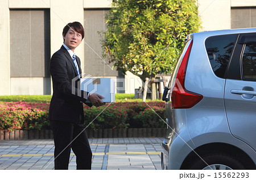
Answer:
[(242, 56), (243, 78), (256, 79), (256, 43), (246, 43)]

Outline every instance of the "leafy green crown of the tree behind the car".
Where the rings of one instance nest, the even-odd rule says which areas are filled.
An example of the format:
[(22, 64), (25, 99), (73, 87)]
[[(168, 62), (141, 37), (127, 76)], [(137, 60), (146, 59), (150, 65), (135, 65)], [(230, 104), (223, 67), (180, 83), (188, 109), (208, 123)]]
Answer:
[(104, 54), (117, 70), (141, 77), (171, 73), (185, 36), (199, 31), (196, 0), (114, 0)]

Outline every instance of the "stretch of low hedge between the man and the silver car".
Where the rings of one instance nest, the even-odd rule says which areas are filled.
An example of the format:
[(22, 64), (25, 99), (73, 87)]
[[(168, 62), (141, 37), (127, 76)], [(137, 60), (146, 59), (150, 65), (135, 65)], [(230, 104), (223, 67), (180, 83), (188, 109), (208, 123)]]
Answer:
[(160, 128), (165, 124), (164, 102), (119, 102), (110, 104), (105, 110), (104, 108), (105, 106), (86, 108), (85, 119), (87, 122), (85, 125), (92, 122), (98, 115), (88, 126), (89, 129)]

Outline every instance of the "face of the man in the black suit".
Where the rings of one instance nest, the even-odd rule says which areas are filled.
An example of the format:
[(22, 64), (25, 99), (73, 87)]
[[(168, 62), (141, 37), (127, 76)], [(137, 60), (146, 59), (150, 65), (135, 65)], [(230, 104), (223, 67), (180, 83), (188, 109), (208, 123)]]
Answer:
[(75, 48), (81, 43), (82, 35), (79, 32), (76, 32), (73, 27), (70, 27), (65, 37), (63, 36), (63, 39), (65, 39), (64, 44), (67, 45), (69, 49), (74, 51)]

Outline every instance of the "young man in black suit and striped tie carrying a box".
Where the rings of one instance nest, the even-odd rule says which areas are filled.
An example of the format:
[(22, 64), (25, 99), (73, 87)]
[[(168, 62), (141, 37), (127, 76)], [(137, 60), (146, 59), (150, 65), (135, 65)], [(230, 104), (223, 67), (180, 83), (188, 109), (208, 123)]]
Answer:
[(51, 58), (53, 95), (49, 120), (55, 144), (55, 169), (68, 169), (71, 148), (76, 155), (77, 169), (91, 169), (92, 151), (83, 124), (83, 103), (89, 106), (104, 103), (101, 95), (80, 90), (81, 62), (74, 51), (83, 38), (82, 24), (68, 23), (63, 28), (64, 44)]

